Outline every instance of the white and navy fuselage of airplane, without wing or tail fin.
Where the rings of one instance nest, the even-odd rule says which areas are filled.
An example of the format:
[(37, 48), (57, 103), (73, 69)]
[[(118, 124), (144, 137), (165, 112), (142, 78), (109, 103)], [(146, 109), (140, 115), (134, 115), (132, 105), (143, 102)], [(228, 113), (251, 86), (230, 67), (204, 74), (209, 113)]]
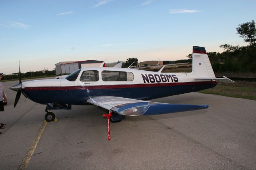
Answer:
[[(88, 75), (91, 79), (82, 78), (86, 73), (91, 73)], [(75, 80), (74, 77), (76, 77)], [(191, 73), (158, 73), (126, 68), (84, 67), (65, 79), (24, 82), (22, 93), (40, 104), (86, 105), (87, 100), (95, 96), (150, 100), (200, 91), (217, 84), (216, 81), (195, 80), (194, 78), (195, 76)]]

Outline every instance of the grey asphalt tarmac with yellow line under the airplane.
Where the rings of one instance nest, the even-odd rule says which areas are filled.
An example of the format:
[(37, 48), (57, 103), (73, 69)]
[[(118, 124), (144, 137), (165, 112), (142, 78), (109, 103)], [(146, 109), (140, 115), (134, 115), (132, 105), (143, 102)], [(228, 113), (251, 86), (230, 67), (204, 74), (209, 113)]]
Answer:
[(111, 123), (108, 141), (104, 111), (73, 105), (44, 123), (45, 105), (22, 95), (13, 108), (16, 92), (8, 88), (16, 83), (3, 82), (0, 169), (256, 169), (256, 101), (202, 93), (155, 99), (210, 107), (126, 117)]

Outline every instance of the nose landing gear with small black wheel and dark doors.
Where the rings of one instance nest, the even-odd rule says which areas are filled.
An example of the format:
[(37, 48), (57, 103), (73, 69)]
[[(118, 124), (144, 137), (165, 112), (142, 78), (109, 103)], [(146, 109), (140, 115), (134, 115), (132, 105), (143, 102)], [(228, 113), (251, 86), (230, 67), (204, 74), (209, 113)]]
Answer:
[(67, 109), (70, 110), (71, 109), (71, 105), (60, 105), (60, 104), (55, 104), (55, 103), (47, 103), (45, 111), (47, 112), (44, 116), (44, 119), (47, 122), (52, 122), (54, 120), (56, 120), (56, 117), (54, 115), (54, 113), (49, 112), (50, 110), (59, 110), (59, 109)]

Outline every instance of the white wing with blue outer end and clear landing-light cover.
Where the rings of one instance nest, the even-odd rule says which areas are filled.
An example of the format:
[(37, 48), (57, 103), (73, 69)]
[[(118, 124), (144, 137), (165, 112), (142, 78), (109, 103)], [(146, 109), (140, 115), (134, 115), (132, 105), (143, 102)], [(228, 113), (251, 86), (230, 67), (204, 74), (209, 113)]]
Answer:
[(87, 102), (118, 113), (119, 115), (127, 116), (158, 115), (165, 113), (207, 109), (209, 107), (208, 105), (156, 103), (113, 96), (92, 97), (88, 99)]

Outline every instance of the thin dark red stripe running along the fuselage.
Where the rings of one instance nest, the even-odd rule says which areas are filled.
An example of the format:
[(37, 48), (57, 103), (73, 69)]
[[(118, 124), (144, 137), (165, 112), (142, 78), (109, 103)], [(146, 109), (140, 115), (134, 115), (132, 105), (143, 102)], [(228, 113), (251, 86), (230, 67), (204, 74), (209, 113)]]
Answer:
[(61, 87), (25, 87), (25, 91), (48, 91), (48, 90), (83, 90), (83, 89), (123, 89), (138, 87), (161, 87), (161, 86), (178, 86), (178, 85), (208, 85), (217, 84), (216, 81), (200, 81), (185, 83), (145, 83), (129, 85), (86, 85), (86, 86), (61, 86)]

